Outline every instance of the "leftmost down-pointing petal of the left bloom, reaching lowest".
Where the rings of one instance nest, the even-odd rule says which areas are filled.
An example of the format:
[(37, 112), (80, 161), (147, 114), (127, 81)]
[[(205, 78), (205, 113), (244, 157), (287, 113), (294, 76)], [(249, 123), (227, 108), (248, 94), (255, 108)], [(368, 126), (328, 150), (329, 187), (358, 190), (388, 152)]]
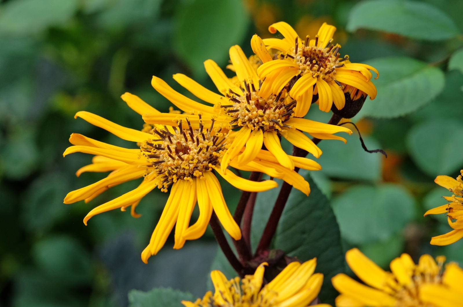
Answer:
[(161, 217), (156, 224), (156, 228), (151, 235), (150, 243), (142, 252), (142, 260), (144, 263), (148, 263), (148, 258), (150, 258), (150, 256), (157, 254), (157, 252), (163, 247), (164, 243), (166, 243), (170, 231), (174, 228), (179, 213), (180, 200), (183, 197), (183, 191), (186, 184), (188, 184), (188, 182), (180, 180), (172, 185), (163, 213), (161, 214)]

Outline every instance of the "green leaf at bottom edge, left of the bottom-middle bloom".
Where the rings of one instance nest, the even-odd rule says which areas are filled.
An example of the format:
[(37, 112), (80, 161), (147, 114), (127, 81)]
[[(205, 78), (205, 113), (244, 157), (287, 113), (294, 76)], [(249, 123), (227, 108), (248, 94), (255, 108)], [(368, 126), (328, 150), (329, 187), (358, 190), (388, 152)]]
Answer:
[(129, 307), (184, 307), (181, 301), (195, 300), (193, 294), (172, 288), (154, 288), (148, 292), (131, 290), (129, 292)]

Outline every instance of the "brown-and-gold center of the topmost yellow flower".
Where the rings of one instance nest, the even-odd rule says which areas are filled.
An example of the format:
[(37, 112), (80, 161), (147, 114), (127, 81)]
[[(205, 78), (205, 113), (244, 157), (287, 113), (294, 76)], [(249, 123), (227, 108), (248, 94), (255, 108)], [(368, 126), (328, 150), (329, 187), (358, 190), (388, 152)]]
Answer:
[(299, 46), (295, 43), (294, 47), (291, 47), (286, 54), (280, 54), (280, 57), (292, 60), (294, 64), (299, 65), (300, 75), (312, 74), (314, 77), (322, 78), (325, 81), (334, 80), (333, 75), (336, 74), (336, 69), (343, 67), (344, 63), (341, 63), (347, 59), (339, 58), (340, 45), (330, 45), (330, 42), (323, 47), (317, 47), (318, 36), (315, 37), (315, 46), (308, 45), (308, 38), (305, 44)]

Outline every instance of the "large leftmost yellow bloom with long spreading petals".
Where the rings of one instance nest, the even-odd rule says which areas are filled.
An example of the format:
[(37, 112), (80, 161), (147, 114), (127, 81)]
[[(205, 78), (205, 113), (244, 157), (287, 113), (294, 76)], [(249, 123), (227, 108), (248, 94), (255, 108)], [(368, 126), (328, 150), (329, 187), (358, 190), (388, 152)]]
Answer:
[[(95, 154), (93, 163), (77, 171), (83, 172), (112, 171), (106, 178), (69, 192), (64, 198), (65, 204), (79, 200), (86, 202), (100, 195), (108, 188), (123, 182), (144, 177), (141, 184), (133, 191), (127, 192), (90, 211), (84, 218), (88, 219), (101, 212), (131, 206), (132, 216), (138, 217), (135, 207), (151, 190), (158, 187), (164, 192), (171, 186), (169, 198), (156, 225), (149, 245), (142, 253), (142, 260), (155, 255), (164, 245), (175, 223), (175, 249), (180, 249), (185, 240), (201, 237), (214, 211), (225, 230), (239, 240), (241, 231), (233, 219), (222, 195), (215, 170), (225, 180), (240, 190), (250, 192), (266, 191), (277, 186), (273, 180), (262, 182), (240, 178), (232, 172), (223, 173), (220, 161), (228, 146), (228, 130), (214, 125), (213, 118), (204, 119), (197, 125), (190, 124), (188, 116), (179, 114), (162, 114), (152, 108), (138, 96), (125, 93), (122, 99), (138, 114), (150, 113), (163, 122), (167, 116), (177, 116), (176, 125), (154, 123), (146, 125), (143, 131), (119, 126), (98, 115), (78, 112), (87, 122), (106, 129), (121, 139), (137, 142), (138, 149), (113, 146), (90, 139), (81, 134), (71, 134), (69, 141), (74, 145), (66, 149), (63, 156), (76, 152)], [(203, 125), (208, 124), (207, 128)], [(189, 226), (194, 206), (198, 202), (200, 216), (196, 223)]]

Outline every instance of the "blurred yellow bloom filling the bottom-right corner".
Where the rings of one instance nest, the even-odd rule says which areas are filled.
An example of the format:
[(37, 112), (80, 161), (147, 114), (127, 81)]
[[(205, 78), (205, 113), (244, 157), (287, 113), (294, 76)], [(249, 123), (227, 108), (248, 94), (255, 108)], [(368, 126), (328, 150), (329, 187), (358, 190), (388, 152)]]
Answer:
[(443, 272), (444, 256), (436, 261), (423, 255), (415, 264), (402, 254), (390, 263), (391, 272), (381, 269), (358, 249), (346, 253), (350, 269), (367, 285), (345, 274), (332, 278), (341, 294), (337, 307), (463, 307), (463, 270), (449, 263)]

